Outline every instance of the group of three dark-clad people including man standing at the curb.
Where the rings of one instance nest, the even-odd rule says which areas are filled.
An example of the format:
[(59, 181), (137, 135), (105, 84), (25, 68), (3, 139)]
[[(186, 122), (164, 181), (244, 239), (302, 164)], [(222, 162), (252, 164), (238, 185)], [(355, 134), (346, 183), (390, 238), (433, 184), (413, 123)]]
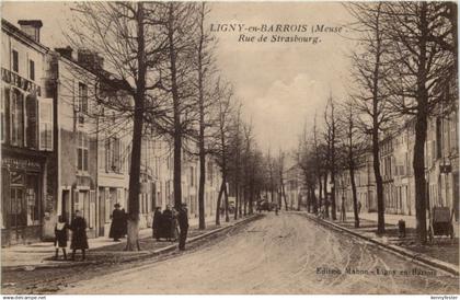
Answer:
[(161, 212), (161, 207), (157, 207), (153, 214), (152, 222), (152, 236), (160, 240), (160, 238), (166, 238), (168, 241), (175, 238), (175, 232), (179, 222), (179, 250), (185, 250), (185, 241), (188, 232), (188, 216), (187, 205), (182, 204), (176, 211), (174, 208), (171, 209), (170, 205), (166, 205), (166, 209)]

